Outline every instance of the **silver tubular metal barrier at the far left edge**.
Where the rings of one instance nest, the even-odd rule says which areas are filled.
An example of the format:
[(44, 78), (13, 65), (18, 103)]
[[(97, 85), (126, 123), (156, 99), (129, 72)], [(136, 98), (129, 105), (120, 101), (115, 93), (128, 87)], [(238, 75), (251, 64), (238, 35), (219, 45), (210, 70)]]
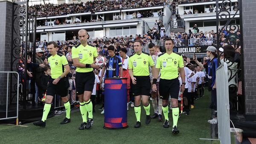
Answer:
[[(7, 73), (7, 87), (6, 87), (6, 117), (5, 118), (0, 118), (0, 120), (6, 120), (6, 119), (12, 119), (12, 118), (16, 118), (16, 125), (19, 124), (19, 80), (20, 80), (20, 76), (17, 72), (0, 72), (0, 73)], [(17, 109), (16, 109), (16, 116), (14, 117), (8, 117), (8, 95), (9, 95), (9, 74), (13, 73), (13, 74), (17, 74)]]

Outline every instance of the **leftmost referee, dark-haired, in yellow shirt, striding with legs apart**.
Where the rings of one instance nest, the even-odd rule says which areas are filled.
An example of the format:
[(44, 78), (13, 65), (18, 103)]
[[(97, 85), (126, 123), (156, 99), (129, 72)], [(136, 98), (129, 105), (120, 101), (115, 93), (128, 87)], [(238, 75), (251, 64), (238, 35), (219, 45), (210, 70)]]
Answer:
[(67, 124), (70, 122), (70, 102), (67, 98), (67, 83), (66, 75), (70, 72), (70, 67), (67, 62), (67, 58), (64, 55), (57, 54), (57, 43), (49, 42), (47, 49), (50, 53), (48, 58), (49, 65), (51, 67), (51, 78), (47, 86), (46, 100), (44, 104), (44, 112), (41, 121), (33, 123), (35, 126), (45, 127), (47, 115), (51, 109), (52, 99), (55, 94), (61, 96), (61, 100), (64, 102), (66, 109), (66, 118), (61, 124)]

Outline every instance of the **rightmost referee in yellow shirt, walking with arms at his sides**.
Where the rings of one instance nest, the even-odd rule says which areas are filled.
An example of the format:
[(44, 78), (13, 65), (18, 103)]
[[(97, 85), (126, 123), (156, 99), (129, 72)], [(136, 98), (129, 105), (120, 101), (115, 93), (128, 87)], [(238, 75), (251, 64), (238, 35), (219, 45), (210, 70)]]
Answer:
[(179, 133), (177, 129), (177, 122), (179, 118), (179, 108), (178, 108), (178, 96), (180, 91), (180, 81), (178, 79), (178, 69), (180, 69), (180, 76), (182, 79), (181, 91), (184, 91), (185, 86), (185, 73), (182, 55), (176, 52), (172, 52), (174, 42), (172, 39), (167, 38), (165, 40), (166, 52), (158, 55), (156, 72), (154, 73), (153, 87), (154, 91), (157, 90), (157, 77), (159, 70), (161, 69), (161, 76), (159, 81), (159, 93), (160, 98), (163, 100), (162, 108), (165, 117), (165, 122), (163, 127), (169, 127), (168, 118), (168, 99), (171, 95), (172, 101), (172, 133)]

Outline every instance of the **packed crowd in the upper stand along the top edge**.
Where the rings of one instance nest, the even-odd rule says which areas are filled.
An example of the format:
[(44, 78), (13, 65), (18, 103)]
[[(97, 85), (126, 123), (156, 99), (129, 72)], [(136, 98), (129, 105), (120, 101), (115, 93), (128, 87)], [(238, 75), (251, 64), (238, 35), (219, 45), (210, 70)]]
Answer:
[(102, 12), (118, 9), (161, 6), (164, 4), (166, 4), (165, 0), (94, 0), (86, 3), (63, 3), (58, 5), (54, 5), (52, 3), (48, 3), (45, 5), (39, 4), (30, 6), (29, 12), (37, 12), (38, 17), (50, 17), (84, 12)]

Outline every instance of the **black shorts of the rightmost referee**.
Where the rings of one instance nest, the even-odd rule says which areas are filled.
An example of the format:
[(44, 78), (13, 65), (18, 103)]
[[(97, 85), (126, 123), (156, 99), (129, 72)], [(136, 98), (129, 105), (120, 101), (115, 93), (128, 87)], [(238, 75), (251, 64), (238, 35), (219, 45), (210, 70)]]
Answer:
[(159, 81), (159, 94), (163, 100), (169, 100), (171, 98), (178, 99), (180, 92), (180, 81), (178, 78), (172, 80), (160, 79)]

